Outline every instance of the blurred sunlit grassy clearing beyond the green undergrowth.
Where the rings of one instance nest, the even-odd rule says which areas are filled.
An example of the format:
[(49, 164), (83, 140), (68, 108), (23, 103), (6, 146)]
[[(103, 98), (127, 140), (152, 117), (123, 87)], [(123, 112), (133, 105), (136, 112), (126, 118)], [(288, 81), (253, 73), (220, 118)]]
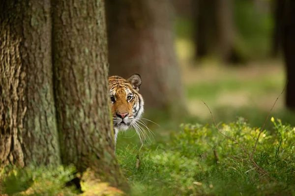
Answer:
[[(182, 78), (187, 93), (187, 108), (191, 114), (201, 118), (208, 117), (206, 108), (200, 106), (202, 100), (212, 111), (224, 106), (257, 107), (268, 111), (284, 88), (283, 71), (281, 64), (241, 68), (185, 67)], [(282, 109), (283, 102), (284, 95), (279, 98), (274, 110)]]

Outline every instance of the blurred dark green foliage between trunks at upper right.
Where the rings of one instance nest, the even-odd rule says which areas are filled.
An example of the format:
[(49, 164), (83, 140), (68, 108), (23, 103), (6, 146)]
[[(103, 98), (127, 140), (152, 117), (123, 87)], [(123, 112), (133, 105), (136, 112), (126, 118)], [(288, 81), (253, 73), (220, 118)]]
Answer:
[[(273, 28), (273, 17), (269, 7), (255, 7), (251, 0), (234, 1), (234, 20), (238, 39), (236, 44), (242, 48), (244, 55), (250, 58), (267, 57)], [(264, 2), (270, 4), (270, 2)]]

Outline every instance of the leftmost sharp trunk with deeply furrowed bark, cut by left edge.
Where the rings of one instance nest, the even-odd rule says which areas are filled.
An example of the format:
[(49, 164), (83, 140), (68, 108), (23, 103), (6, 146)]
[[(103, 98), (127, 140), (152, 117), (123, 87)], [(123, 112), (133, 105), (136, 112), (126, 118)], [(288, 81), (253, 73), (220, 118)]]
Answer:
[(0, 4), (0, 168), (58, 165), (50, 0)]

